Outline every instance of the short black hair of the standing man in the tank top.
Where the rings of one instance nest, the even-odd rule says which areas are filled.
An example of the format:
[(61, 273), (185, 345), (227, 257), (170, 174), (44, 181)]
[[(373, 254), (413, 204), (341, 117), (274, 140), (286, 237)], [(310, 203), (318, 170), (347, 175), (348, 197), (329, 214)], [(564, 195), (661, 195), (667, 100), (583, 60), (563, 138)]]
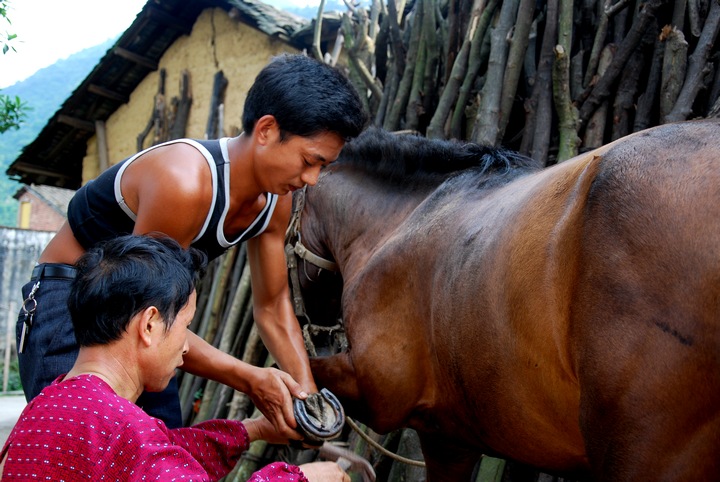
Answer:
[(348, 141), (367, 123), (350, 81), (338, 69), (301, 54), (274, 57), (255, 78), (243, 109), (250, 133), (264, 115), (277, 120), (283, 138), (335, 132)]

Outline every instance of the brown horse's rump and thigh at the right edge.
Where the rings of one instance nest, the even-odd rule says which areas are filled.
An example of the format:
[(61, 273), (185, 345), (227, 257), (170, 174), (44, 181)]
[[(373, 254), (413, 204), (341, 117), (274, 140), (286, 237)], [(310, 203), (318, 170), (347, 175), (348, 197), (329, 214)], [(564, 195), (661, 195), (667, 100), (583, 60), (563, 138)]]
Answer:
[(588, 193), (571, 322), (607, 478), (720, 475), (717, 139), (716, 121), (639, 133), (602, 154)]

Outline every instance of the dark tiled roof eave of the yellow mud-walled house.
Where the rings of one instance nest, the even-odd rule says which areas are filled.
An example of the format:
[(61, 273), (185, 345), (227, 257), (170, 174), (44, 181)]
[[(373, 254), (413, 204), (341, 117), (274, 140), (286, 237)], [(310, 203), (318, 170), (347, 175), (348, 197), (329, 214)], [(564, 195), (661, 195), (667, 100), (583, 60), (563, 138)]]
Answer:
[(165, 51), (179, 37), (190, 34), (200, 13), (211, 7), (231, 12), (239, 21), (295, 47), (307, 47), (293, 35), (308, 21), (258, 0), (148, 0), (132, 25), (10, 164), (8, 176), (24, 184), (78, 189), (95, 123), (125, 104), (138, 84), (158, 69)]

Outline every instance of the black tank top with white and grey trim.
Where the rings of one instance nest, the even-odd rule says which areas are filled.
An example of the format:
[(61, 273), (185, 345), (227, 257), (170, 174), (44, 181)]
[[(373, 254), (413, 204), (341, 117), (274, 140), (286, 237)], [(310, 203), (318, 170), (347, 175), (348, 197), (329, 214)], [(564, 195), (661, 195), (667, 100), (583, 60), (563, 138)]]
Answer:
[[(227, 240), (223, 226), (229, 208), (230, 158), (228, 138), (218, 140), (177, 139), (150, 147), (110, 167), (95, 180), (81, 187), (68, 205), (68, 223), (78, 242), (89, 249), (100, 241), (130, 234), (135, 226), (135, 213), (125, 204), (120, 191), (122, 174), (139, 156), (160, 146), (184, 143), (195, 147), (207, 160), (212, 173), (213, 201), (202, 229), (191, 246), (204, 251), (209, 259), (223, 254), (228, 248), (246, 241), (267, 228), (277, 205), (278, 196), (267, 193), (260, 214), (236, 239)], [(182, 216), (181, 213), (178, 213)]]

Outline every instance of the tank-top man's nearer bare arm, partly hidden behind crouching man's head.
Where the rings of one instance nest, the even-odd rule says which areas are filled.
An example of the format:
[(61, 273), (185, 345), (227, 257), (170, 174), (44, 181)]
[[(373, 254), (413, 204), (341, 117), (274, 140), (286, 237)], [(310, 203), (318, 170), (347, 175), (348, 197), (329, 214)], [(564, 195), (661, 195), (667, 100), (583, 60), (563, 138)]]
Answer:
[[(137, 215), (135, 234), (162, 232), (188, 247), (199, 234), (212, 203), (210, 169), (192, 146), (161, 147), (128, 167), (122, 192)], [(306, 395), (290, 375), (244, 363), (193, 333), (188, 340), (190, 350), (182, 367), (185, 371), (247, 393), (279, 433), (290, 439), (301, 438), (293, 430), (291, 395)]]

